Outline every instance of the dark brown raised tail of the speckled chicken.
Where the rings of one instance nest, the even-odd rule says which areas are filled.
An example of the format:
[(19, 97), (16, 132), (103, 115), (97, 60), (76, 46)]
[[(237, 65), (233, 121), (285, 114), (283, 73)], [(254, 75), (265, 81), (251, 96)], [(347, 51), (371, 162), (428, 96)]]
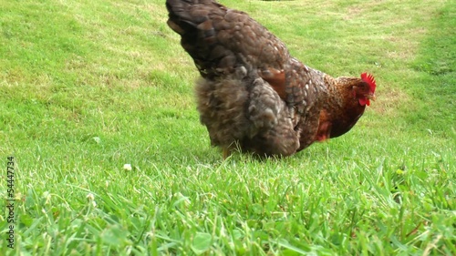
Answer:
[(166, 7), (168, 26), (181, 35), (181, 46), (192, 56), (202, 77), (219, 76), (217, 68), (228, 68), (223, 73), (233, 71), (236, 58), (230, 46), (217, 38), (223, 29), (223, 35), (230, 35), (229, 29), (235, 26), (224, 21), (225, 6), (212, 0), (167, 0)]

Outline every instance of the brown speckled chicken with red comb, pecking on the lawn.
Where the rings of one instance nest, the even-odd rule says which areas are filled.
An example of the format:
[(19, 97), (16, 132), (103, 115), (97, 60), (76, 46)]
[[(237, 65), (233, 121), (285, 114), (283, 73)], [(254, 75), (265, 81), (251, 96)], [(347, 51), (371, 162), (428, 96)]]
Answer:
[(244, 12), (213, 0), (166, 6), (168, 26), (200, 72), (197, 108), (223, 157), (235, 148), (290, 156), (347, 132), (374, 97), (373, 77), (333, 78), (306, 67)]

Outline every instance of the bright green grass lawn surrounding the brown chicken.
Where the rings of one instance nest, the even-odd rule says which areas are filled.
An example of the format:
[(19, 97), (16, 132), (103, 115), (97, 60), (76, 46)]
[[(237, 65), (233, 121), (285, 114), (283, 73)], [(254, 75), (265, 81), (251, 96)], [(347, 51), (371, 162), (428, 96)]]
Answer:
[(454, 254), (451, 1), (222, 1), (308, 66), (378, 81), (347, 135), (264, 161), (210, 147), (163, 2), (0, 3), (5, 200), (16, 159), (15, 249), (5, 210), (1, 251)]

